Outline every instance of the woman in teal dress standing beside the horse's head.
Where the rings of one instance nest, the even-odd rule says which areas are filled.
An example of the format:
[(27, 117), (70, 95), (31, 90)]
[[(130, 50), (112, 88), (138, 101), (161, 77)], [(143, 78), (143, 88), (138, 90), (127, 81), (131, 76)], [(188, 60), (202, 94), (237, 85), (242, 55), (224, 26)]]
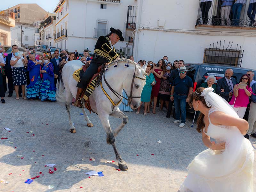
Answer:
[[(146, 84), (143, 87), (142, 93), (141, 93), (141, 99), (140, 99), (140, 106), (142, 102), (144, 102), (144, 115), (147, 115), (147, 112), (149, 113), (149, 102), (150, 102), (150, 94), (152, 91), (152, 85), (155, 84), (156, 80), (154, 75), (151, 73), (152, 66), (148, 65), (146, 69)], [(140, 113), (140, 107), (138, 108), (136, 114)]]

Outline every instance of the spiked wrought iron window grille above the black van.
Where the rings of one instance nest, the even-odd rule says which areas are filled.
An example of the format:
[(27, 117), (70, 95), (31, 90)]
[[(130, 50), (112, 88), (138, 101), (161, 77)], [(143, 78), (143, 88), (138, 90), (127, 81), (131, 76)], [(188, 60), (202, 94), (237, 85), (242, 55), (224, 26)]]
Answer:
[(222, 64), (241, 67), (244, 50), (241, 50), (241, 46), (236, 45), (235, 49), (232, 49), (233, 42), (228, 43), (225, 46), (225, 40), (223, 42), (217, 42), (204, 49), (204, 61), (203, 63)]

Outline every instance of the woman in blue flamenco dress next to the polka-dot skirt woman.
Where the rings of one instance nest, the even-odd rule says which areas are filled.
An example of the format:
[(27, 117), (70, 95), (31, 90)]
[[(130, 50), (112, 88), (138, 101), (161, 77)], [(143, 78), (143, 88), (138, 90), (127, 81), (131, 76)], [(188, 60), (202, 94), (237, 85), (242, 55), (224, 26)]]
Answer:
[(43, 80), (40, 76), (40, 70), (42, 68), (42, 62), (36, 61), (36, 56), (32, 52), (29, 52), (29, 61), (28, 61), (28, 68), (27, 71), (29, 71), (29, 80), (30, 83), (27, 86), (27, 98), (29, 100), (34, 100), (36, 98), (39, 98), (40, 93), (40, 87), (43, 83)]

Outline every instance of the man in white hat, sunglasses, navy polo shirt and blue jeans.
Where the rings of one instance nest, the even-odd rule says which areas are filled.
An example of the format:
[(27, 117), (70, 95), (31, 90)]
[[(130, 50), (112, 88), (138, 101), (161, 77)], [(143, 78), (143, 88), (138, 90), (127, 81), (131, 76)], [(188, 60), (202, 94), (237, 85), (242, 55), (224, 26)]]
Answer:
[[(179, 77), (176, 77), (172, 84), (171, 101), (174, 100), (176, 120), (173, 123), (180, 123), (179, 127), (184, 127), (186, 122), (186, 104), (189, 101), (189, 95), (193, 91), (193, 81), (187, 74), (186, 67), (180, 67)], [(181, 110), (181, 118), (180, 118)]]

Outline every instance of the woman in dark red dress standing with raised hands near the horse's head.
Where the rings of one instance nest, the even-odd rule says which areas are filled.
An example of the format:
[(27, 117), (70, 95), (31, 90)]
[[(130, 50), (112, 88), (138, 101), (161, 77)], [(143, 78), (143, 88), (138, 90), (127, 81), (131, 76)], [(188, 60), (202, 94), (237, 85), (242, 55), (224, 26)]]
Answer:
[(153, 65), (152, 73), (156, 79), (156, 84), (152, 87), (151, 100), (150, 103), (154, 100), (153, 113), (156, 114), (156, 101), (157, 95), (160, 89), (161, 78), (164, 75), (165, 62), (163, 59), (159, 60), (157, 64)]

